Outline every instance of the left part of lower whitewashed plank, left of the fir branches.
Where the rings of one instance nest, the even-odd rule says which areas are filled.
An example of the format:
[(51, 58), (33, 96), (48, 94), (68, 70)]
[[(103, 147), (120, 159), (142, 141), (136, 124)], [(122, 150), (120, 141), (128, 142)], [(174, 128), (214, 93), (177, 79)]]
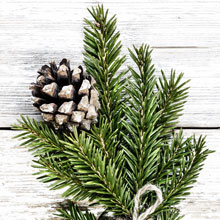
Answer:
[(53, 219), (59, 192), (49, 191), (32, 175), (32, 157), (11, 138), (14, 131), (0, 131), (0, 219)]

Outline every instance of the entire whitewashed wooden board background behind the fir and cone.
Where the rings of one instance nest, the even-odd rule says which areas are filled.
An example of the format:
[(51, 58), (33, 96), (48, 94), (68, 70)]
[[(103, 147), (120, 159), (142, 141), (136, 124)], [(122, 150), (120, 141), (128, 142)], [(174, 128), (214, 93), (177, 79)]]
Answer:
[[(31, 168), (31, 155), (11, 137), (20, 114), (37, 116), (28, 86), (50, 60), (82, 62), (83, 18), (92, 0), (0, 0), (0, 219), (54, 219), (60, 192), (48, 191)], [(220, 1), (106, 0), (118, 14), (123, 53), (142, 42), (154, 48), (158, 72), (171, 68), (190, 78), (190, 97), (179, 126), (207, 135), (216, 150), (191, 196), (180, 205), (184, 220), (220, 219)], [(127, 63), (130, 63), (128, 59)]]

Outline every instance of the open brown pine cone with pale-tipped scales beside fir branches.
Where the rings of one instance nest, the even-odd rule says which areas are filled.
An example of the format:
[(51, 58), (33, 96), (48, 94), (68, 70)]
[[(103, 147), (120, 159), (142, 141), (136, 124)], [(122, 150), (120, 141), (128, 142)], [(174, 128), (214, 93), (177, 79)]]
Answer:
[(86, 76), (79, 66), (70, 69), (70, 62), (63, 59), (59, 67), (55, 62), (42, 66), (37, 82), (30, 89), (33, 105), (42, 112), (43, 119), (55, 129), (69, 129), (73, 126), (90, 130), (97, 122), (100, 108), (95, 80)]

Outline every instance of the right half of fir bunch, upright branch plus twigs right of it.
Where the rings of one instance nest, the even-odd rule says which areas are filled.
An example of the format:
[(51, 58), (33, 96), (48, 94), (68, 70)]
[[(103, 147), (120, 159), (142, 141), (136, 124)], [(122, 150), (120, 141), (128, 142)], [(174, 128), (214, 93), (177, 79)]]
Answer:
[[(138, 71), (129, 67), (133, 81), (127, 85), (129, 99), (124, 107), (127, 178), (133, 197), (147, 183), (162, 190), (165, 198), (157, 214), (189, 194), (210, 151), (203, 150), (203, 137), (197, 142), (195, 137), (184, 140), (182, 131), (173, 134), (187, 97), (188, 87), (184, 86), (188, 81), (181, 82), (183, 74), (176, 77), (175, 71), (171, 71), (168, 81), (162, 72), (158, 86), (149, 46), (134, 47), (134, 52), (129, 52)], [(148, 194), (143, 200), (152, 205), (154, 196)]]

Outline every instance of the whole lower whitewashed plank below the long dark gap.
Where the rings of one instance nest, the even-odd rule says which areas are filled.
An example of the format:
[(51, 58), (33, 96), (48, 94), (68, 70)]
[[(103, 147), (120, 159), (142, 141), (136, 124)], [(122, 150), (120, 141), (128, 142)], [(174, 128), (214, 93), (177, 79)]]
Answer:
[[(220, 130), (186, 130), (185, 135), (207, 135), (207, 145), (216, 150), (205, 162), (191, 195), (179, 206), (184, 220), (220, 219)], [(52, 213), (61, 202), (61, 191), (49, 191), (32, 175), (32, 156), (11, 137), (16, 131), (0, 132), (0, 219), (55, 219)], [(93, 210), (96, 211), (97, 210)], [(98, 210), (99, 211), (99, 210)]]

